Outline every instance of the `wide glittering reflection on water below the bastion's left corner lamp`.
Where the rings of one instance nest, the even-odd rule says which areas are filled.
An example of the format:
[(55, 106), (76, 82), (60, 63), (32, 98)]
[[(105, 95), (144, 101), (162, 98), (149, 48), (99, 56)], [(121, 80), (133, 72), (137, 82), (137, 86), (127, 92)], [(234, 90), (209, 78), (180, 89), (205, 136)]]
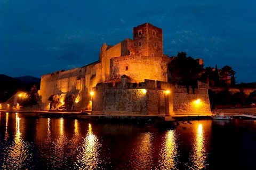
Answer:
[(92, 125), (89, 123), (89, 129), (81, 148), (82, 152), (77, 156), (76, 166), (79, 169), (96, 169), (100, 163), (100, 148), (99, 139), (93, 134)]

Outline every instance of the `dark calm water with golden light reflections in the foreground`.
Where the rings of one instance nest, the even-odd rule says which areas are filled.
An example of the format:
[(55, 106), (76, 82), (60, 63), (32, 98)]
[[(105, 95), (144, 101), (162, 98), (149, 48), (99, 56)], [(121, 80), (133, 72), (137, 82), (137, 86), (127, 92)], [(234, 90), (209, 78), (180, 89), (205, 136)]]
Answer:
[(97, 124), (0, 113), (0, 169), (256, 169), (255, 120)]

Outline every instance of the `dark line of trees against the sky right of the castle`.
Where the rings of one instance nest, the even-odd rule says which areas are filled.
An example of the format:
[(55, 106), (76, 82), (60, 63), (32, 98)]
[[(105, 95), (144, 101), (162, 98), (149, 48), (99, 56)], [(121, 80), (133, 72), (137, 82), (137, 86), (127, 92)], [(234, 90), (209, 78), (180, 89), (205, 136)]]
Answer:
[(210, 87), (235, 86), (236, 72), (230, 66), (222, 69), (206, 67), (198, 60), (187, 56), (186, 52), (178, 52), (169, 63), (171, 78), (169, 82), (174, 85), (196, 86), (197, 80), (209, 83)]

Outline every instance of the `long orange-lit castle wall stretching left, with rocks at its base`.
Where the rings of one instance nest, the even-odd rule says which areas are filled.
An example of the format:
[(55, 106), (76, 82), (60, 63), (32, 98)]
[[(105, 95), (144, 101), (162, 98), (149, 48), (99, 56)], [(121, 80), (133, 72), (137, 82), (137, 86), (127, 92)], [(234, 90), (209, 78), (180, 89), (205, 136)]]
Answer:
[(48, 99), (55, 94), (61, 96), (60, 104), (67, 96), (74, 94), (73, 109), (86, 109), (90, 107), (91, 96), (89, 92), (93, 86), (100, 82), (102, 82), (101, 63), (43, 75), (39, 91), (39, 95), (42, 96), (42, 109), (50, 109)]

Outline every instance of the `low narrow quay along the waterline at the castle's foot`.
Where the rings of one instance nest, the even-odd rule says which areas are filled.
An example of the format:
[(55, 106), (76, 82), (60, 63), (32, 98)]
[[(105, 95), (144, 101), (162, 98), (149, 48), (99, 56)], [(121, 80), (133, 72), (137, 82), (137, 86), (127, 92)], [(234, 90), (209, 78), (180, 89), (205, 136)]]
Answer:
[[(172, 115), (167, 118), (158, 115), (91, 115), (91, 110), (41, 110), (41, 109), (5, 109), (0, 110), (3, 112), (19, 112), (24, 116), (36, 116), (36, 117), (49, 117), (49, 118), (73, 118), (73, 119), (83, 119), (83, 120), (97, 120), (99, 122), (108, 121), (155, 121), (163, 120), (164, 122), (174, 122), (176, 120), (202, 120), (211, 119), (209, 114), (195, 114), (195, 113), (183, 113)], [(235, 109), (212, 109), (212, 114), (217, 112), (223, 112), (223, 114), (228, 116), (245, 116), (245, 114), (256, 115), (256, 108), (235, 108)]]

